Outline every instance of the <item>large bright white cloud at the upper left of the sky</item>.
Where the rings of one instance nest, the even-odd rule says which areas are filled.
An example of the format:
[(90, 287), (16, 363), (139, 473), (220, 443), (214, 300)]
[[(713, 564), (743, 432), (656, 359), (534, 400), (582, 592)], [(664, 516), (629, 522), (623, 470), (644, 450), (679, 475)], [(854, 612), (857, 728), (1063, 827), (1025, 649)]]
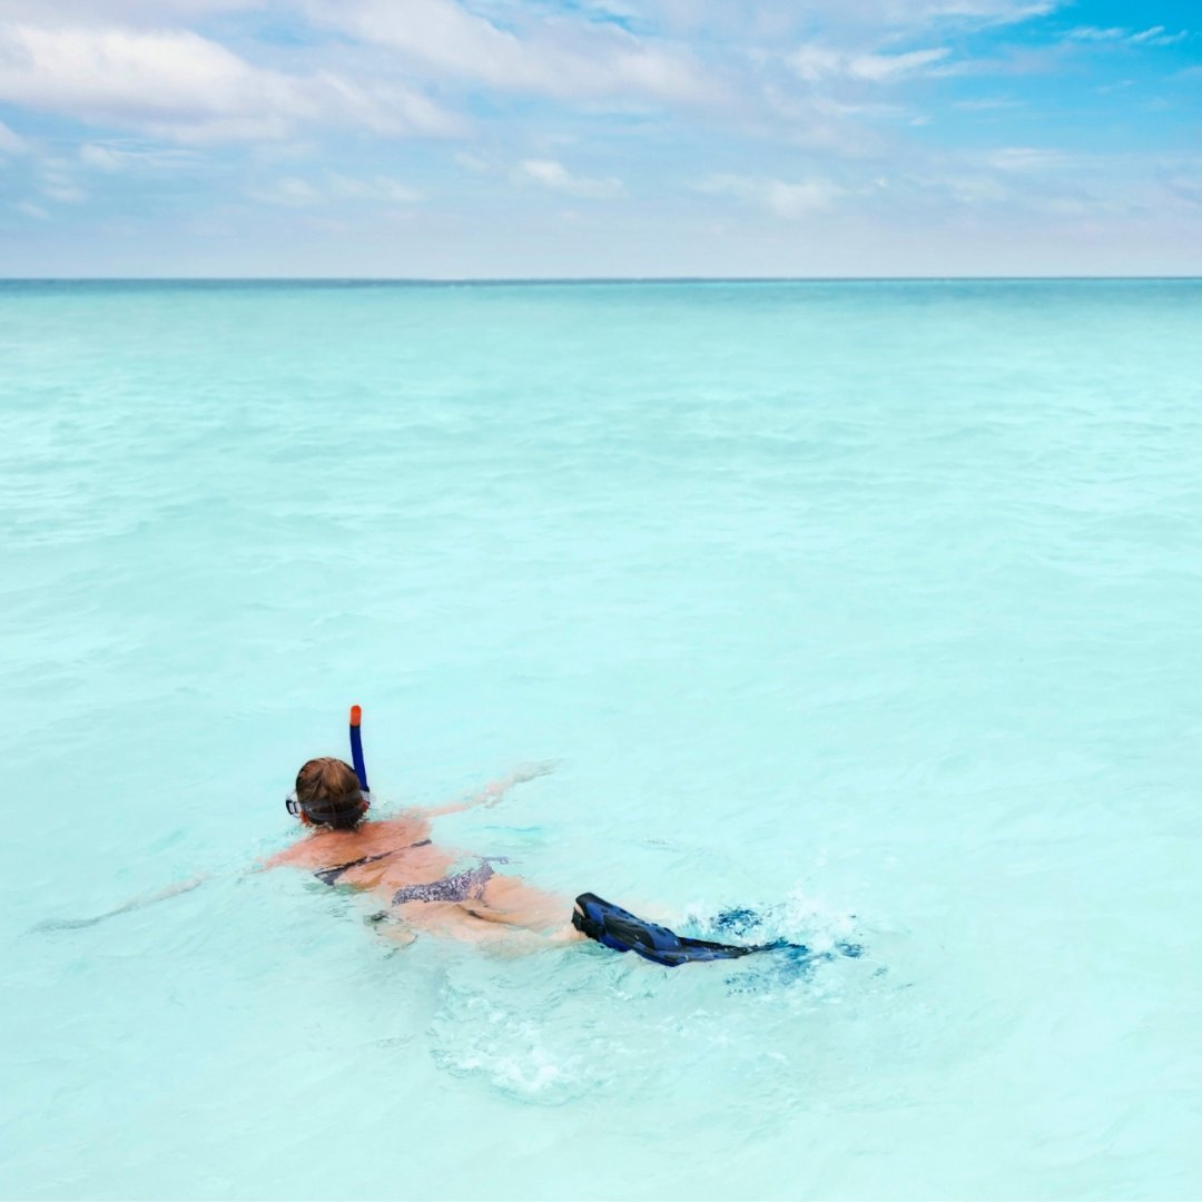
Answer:
[(188, 30), (0, 26), (0, 101), (196, 143), (284, 137), (302, 121), (381, 135), (453, 125), (411, 89), (287, 76)]

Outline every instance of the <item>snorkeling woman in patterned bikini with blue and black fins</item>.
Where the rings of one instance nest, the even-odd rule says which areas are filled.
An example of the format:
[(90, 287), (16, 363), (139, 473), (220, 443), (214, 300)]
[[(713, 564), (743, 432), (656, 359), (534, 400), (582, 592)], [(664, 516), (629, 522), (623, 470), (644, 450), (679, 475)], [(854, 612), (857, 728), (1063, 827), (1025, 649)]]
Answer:
[(495, 805), (510, 789), (551, 772), (552, 764), (519, 768), (464, 802), (368, 821), (371, 797), (359, 722), (356, 706), (351, 710), (353, 768), (326, 756), (308, 761), (297, 773), (286, 804), (307, 828), (307, 837), (262, 867), (307, 869), (323, 885), (380, 898), (385, 909), (371, 920), (387, 938), (407, 944), (428, 932), (513, 951), (594, 939), (673, 968), (781, 946), (733, 947), (688, 939), (594, 893), (582, 893), (569, 908), (565, 898), (498, 873), (493, 864), (504, 864), (504, 857), (468, 856), (434, 843), (433, 819)]

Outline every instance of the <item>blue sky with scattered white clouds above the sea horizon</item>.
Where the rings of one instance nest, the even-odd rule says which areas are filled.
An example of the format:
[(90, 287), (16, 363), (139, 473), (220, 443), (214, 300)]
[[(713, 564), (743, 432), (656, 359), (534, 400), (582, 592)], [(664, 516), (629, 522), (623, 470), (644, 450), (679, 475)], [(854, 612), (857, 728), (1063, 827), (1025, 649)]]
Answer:
[(1202, 275), (1200, 0), (0, 0), (0, 275)]

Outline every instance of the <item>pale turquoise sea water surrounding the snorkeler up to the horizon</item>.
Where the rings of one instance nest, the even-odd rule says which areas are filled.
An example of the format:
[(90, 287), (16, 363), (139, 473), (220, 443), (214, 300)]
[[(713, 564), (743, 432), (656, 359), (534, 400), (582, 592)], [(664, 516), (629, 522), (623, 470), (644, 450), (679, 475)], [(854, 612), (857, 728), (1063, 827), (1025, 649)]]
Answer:
[[(1202, 1194), (1202, 284), (0, 285), (0, 1194)], [(387, 952), (385, 808), (803, 977)], [(202, 888), (81, 930), (197, 871)]]

